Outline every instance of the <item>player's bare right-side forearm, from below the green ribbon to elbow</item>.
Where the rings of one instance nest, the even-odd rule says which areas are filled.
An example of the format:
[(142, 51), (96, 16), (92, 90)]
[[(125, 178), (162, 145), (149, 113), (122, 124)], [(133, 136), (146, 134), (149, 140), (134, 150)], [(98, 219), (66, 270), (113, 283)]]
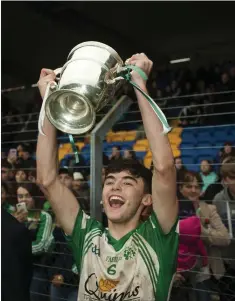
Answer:
[[(145, 87), (141, 87), (147, 93)], [(147, 99), (135, 90), (147, 139), (153, 156), (153, 165), (156, 170), (173, 166), (173, 155), (167, 135), (164, 135), (163, 126)]]

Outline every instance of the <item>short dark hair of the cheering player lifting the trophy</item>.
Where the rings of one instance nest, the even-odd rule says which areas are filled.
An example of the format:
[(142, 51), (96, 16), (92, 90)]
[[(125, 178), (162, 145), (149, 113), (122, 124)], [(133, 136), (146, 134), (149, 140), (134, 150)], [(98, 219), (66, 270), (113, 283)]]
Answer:
[(142, 178), (144, 181), (144, 192), (152, 193), (152, 172), (144, 165), (133, 159), (122, 159), (114, 161), (105, 169), (105, 177), (110, 173), (129, 172), (136, 178)]

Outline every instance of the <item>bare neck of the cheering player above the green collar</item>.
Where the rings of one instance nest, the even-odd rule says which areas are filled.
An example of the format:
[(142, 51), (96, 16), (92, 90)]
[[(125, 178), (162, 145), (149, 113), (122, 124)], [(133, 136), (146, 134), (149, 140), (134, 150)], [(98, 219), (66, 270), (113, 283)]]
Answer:
[(119, 240), (127, 233), (131, 232), (132, 230), (135, 230), (138, 227), (139, 223), (139, 218), (138, 220), (132, 220), (126, 223), (113, 223), (109, 220), (109, 233), (113, 238)]

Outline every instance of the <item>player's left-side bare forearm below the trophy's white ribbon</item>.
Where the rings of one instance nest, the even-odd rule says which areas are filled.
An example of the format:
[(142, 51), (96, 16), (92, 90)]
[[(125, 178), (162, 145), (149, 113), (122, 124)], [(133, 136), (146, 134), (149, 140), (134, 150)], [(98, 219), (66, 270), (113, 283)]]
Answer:
[(37, 143), (37, 180), (48, 186), (57, 176), (57, 143), (56, 129), (47, 117), (44, 120), (43, 132), (39, 134)]

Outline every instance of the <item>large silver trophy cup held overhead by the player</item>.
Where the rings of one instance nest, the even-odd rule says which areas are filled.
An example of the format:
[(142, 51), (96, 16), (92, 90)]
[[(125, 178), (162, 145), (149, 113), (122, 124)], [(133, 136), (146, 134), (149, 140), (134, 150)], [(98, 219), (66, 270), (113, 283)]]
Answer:
[(121, 66), (117, 52), (103, 43), (85, 42), (74, 47), (45, 103), (50, 122), (68, 134), (88, 132), (95, 124), (96, 112), (121, 84), (114, 80)]

